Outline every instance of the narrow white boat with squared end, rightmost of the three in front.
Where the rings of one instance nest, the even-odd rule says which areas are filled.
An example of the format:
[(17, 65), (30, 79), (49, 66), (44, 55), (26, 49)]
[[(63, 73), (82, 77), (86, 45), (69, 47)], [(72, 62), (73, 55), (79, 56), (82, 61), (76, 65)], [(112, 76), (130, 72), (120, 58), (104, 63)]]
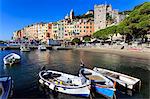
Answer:
[(97, 73), (105, 75), (106, 77), (112, 79), (113, 81), (117, 82), (118, 84), (128, 89), (135, 90), (136, 87), (138, 86), (138, 89), (140, 90), (141, 80), (138, 78), (134, 78), (125, 74), (121, 74), (103, 68), (95, 67), (93, 70), (96, 71)]

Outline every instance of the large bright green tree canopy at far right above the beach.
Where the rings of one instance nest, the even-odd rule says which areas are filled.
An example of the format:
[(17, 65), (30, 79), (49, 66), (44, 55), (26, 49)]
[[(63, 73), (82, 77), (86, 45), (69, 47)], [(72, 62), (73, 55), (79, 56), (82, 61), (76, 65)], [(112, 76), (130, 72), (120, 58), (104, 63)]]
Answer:
[[(118, 26), (120, 34), (135, 38), (142, 38), (150, 31), (150, 2), (136, 6), (129, 16)], [(128, 38), (129, 39), (129, 38)]]

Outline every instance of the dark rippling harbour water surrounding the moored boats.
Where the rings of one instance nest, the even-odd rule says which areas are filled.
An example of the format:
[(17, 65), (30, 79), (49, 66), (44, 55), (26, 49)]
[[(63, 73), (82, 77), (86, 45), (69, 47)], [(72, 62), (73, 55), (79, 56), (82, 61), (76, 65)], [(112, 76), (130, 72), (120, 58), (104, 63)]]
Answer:
[[(11, 52), (21, 55), (21, 63), (13, 66), (4, 66), (3, 57)], [(63, 71), (78, 75), (80, 59), (88, 68), (94, 66), (118, 71), (142, 81), (141, 91), (133, 96), (117, 94), (117, 98), (150, 98), (150, 60), (131, 58), (107, 53), (87, 52), (80, 50), (47, 50), (40, 52), (20, 52), (19, 50), (0, 51), (0, 76), (10, 75), (14, 80), (13, 98), (50, 98), (50, 99), (84, 99), (81, 97), (58, 94), (54, 96), (44, 90), (38, 83), (38, 73), (43, 66), (47, 69)], [(103, 98), (96, 95), (95, 99)]]

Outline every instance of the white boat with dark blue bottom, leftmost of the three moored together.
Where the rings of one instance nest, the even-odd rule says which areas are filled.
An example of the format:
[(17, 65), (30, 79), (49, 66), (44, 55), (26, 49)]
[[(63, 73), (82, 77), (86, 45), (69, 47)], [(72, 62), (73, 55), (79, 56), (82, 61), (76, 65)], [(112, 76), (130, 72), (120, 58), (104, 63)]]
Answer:
[(41, 84), (56, 92), (83, 97), (90, 95), (90, 81), (83, 77), (52, 70), (41, 71), (39, 77)]

